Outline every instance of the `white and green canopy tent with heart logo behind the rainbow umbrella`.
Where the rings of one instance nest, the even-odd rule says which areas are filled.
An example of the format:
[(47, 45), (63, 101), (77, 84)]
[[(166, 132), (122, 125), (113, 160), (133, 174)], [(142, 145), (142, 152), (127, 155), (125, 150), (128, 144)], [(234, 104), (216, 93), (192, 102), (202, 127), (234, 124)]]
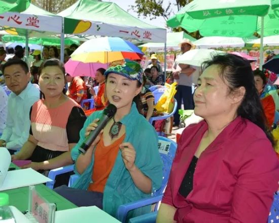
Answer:
[(79, 0), (58, 15), (64, 18), (64, 34), (133, 38), (143, 42), (166, 41), (165, 28), (135, 18), (115, 3)]

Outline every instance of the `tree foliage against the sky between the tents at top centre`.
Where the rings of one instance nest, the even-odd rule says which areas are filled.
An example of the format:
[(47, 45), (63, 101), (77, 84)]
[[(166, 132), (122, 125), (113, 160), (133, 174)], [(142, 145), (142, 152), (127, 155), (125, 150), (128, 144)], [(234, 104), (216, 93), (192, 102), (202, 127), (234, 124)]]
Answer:
[[(192, 2), (193, 0), (176, 0), (177, 11), (179, 11), (183, 6)], [(155, 19), (162, 16), (167, 20), (172, 14), (171, 5), (173, 3), (168, 2), (164, 7), (163, 2), (165, 0), (135, 0), (135, 5), (129, 6), (138, 16), (143, 15), (144, 17), (149, 17), (150, 19)]]

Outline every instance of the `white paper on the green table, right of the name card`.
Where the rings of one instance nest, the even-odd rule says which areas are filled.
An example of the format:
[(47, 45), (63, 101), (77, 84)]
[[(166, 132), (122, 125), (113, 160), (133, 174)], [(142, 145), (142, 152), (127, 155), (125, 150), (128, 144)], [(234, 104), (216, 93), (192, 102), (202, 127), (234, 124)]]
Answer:
[[(82, 216), (82, 218), (81, 218)], [(96, 206), (72, 208), (55, 212), (55, 222), (120, 223), (119, 220)]]

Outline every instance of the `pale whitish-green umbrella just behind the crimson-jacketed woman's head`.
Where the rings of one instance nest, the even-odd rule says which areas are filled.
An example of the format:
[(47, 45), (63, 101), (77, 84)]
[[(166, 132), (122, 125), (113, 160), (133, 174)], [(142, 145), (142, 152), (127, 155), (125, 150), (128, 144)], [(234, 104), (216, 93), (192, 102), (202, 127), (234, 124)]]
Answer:
[(194, 49), (189, 50), (177, 58), (178, 63), (200, 67), (205, 60), (211, 59), (213, 55), (224, 53), (219, 50)]

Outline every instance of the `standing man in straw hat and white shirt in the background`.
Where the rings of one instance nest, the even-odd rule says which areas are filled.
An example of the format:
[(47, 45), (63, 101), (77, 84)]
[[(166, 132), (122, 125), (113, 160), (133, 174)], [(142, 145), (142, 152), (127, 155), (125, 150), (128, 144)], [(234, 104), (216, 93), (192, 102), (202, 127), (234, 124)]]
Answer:
[[(177, 56), (179, 58), (182, 54), (186, 53), (189, 50), (195, 49), (195, 45), (191, 43), (188, 39), (183, 39), (179, 44), (181, 48), (181, 54)], [(193, 109), (193, 98), (192, 98), (192, 74), (195, 71), (194, 68), (189, 65), (178, 65), (177, 58), (175, 63), (172, 66), (172, 74), (175, 82), (178, 82), (177, 93), (175, 98), (178, 103), (177, 111), (174, 115), (174, 125), (179, 125), (180, 115), (178, 110), (181, 109), (182, 100), (184, 105), (184, 110)]]

